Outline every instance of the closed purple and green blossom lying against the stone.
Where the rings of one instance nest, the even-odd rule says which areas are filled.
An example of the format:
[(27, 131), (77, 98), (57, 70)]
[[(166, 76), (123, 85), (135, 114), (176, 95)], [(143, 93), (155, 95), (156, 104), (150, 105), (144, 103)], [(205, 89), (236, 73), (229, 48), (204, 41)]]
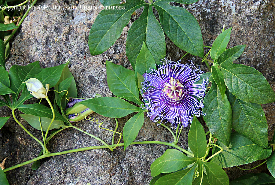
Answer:
[(66, 115), (71, 123), (81, 121), (94, 112), (80, 103), (88, 99), (91, 98), (69, 98), (66, 106)]

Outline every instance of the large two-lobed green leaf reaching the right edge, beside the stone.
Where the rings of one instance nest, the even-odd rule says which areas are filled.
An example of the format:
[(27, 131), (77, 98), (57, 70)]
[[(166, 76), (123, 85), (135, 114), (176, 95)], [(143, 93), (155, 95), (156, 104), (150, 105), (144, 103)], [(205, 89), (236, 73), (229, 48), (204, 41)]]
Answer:
[(232, 63), (240, 56), (244, 47), (245, 45), (230, 48), (217, 59), (227, 88), (245, 102), (258, 104), (274, 102), (275, 93), (262, 73), (252, 67)]

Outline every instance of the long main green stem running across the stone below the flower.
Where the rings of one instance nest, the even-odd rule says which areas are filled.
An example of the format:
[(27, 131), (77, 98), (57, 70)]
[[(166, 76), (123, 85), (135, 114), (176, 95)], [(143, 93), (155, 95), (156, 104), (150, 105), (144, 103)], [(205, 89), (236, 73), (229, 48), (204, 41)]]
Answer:
[[(140, 145), (140, 144), (162, 144), (162, 145), (167, 145), (167, 146), (172, 146), (178, 150), (181, 150), (182, 152), (184, 152), (185, 154), (188, 154), (190, 156), (193, 156), (193, 154), (191, 154), (190, 152), (182, 149), (181, 147), (173, 144), (173, 143), (170, 143), (170, 142), (162, 142), (162, 141), (140, 141), (140, 142), (132, 142), (131, 145)], [(116, 146), (116, 144), (114, 145), (109, 145), (110, 147), (114, 147)], [(124, 146), (124, 143), (119, 143), (118, 146)], [(9, 168), (5, 168), (3, 170), (3, 172), (7, 172), (9, 170), (12, 170), (12, 169), (15, 169), (15, 168), (18, 168), (18, 167), (21, 167), (21, 166), (24, 166), (24, 165), (27, 165), (27, 164), (30, 164), (32, 162), (35, 162), (35, 161), (38, 161), (40, 159), (43, 159), (43, 158), (46, 158), (46, 157), (51, 157), (51, 156), (57, 156), (57, 155), (62, 155), (62, 154), (69, 154), (69, 153), (74, 153), (74, 152), (80, 152), (80, 151), (85, 151), (85, 150), (94, 150), (94, 149), (103, 149), (103, 148), (108, 148), (108, 146), (104, 146), (104, 145), (101, 145), (101, 146), (89, 146), (89, 147), (84, 147), (84, 148), (78, 148), (78, 149), (73, 149), (73, 150), (67, 150), (67, 151), (63, 151), (63, 152), (57, 152), (57, 153), (51, 153), (51, 154), (44, 154), (42, 156), (39, 156), (39, 157), (36, 157), (34, 159), (31, 159), (29, 161), (26, 161), (26, 162), (23, 162), (23, 163), (20, 163), (18, 165), (15, 165), (15, 166), (12, 166), (12, 167), (9, 167)]]

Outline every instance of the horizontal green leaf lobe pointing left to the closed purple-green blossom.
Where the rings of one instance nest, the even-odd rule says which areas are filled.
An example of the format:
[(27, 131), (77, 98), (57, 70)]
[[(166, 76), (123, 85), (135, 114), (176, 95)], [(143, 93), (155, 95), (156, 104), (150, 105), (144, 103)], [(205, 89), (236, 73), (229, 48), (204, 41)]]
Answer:
[(124, 117), (133, 112), (143, 111), (121, 98), (101, 97), (85, 100), (81, 102), (94, 112), (105, 117)]

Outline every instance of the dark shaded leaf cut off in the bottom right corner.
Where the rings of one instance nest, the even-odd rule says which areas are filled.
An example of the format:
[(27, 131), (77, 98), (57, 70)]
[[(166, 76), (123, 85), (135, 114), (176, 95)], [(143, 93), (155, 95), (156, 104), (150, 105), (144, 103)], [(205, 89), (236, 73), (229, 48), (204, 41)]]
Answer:
[(275, 179), (266, 173), (249, 173), (230, 182), (230, 185), (275, 184)]

